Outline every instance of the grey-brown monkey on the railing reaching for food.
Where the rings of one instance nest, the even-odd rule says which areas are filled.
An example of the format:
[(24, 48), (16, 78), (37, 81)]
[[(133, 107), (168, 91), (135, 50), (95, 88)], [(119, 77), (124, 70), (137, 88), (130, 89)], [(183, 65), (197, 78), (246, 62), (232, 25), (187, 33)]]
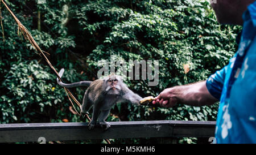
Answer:
[[(64, 68), (61, 68), (59, 76), (64, 73)], [(81, 113), (87, 113), (93, 107), (92, 120), (88, 124), (89, 130), (96, 126), (97, 121), (102, 128), (108, 130), (110, 123), (106, 122), (106, 118), (110, 113), (110, 109), (117, 102), (130, 102), (131, 104), (140, 105), (139, 101), (142, 97), (131, 91), (122, 77), (110, 74), (103, 79), (94, 81), (80, 81), (77, 83), (65, 84), (57, 78), (57, 84), (66, 88), (73, 88), (79, 86), (88, 86), (85, 91), (84, 98), (81, 105)]]

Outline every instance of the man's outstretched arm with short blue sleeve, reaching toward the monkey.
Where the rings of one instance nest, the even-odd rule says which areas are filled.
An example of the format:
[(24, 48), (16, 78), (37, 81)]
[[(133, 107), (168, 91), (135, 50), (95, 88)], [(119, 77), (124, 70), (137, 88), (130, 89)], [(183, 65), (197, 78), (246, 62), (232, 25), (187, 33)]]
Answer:
[[(230, 59), (230, 64), (235, 58), (236, 55)], [(167, 88), (152, 103), (159, 103), (163, 107), (172, 107), (177, 103), (192, 106), (212, 105), (221, 98), (228, 67), (229, 65), (216, 71), (206, 81)]]

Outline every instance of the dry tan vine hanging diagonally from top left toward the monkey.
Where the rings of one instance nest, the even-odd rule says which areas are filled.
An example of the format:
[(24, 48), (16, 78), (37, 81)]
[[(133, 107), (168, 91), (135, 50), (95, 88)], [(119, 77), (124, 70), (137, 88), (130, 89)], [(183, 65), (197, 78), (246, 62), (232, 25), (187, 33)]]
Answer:
[[(44, 54), (44, 51), (40, 49), (39, 45), (36, 43), (36, 41), (34, 40), (34, 38), (32, 37), (31, 33), (28, 31), (28, 29), (19, 21), (19, 19), (16, 17), (16, 15), (13, 13), (13, 11), (10, 10), (9, 6), (7, 5), (7, 3), (5, 2), (5, 0), (1, 0), (0, 2), (3, 2), (3, 5), (5, 5), (5, 7), (7, 8), (7, 10), (10, 12), (11, 16), (13, 16), (14, 20), (16, 21), (16, 23), (18, 24), (18, 36), (21, 36), (21, 34), (24, 36), (25, 40), (30, 41), (30, 44), (35, 48), (36, 51), (38, 51), (38, 54), (41, 56), (43, 55), (43, 58), (46, 60), (46, 62), (49, 64), (49, 67), (52, 69), (52, 71), (55, 73), (55, 75), (57, 76), (57, 78), (62, 81), (62, 79), (60, 78), (58, 72), (55, 70), (55, 68), (52, 66), (51, 62), (48, 60), (48, 58), (46, 57), (46, 55)], [(0, 3), (1, 5), (1, 3)], [(1, 7), (1, 6), (0, 6)], [(1, 11), (0, 11), (0, 18), (1, 18), (1, 26), (2, 26), (2, 15), (1, 15)], [(3, 29), (3, 26), (2, 26)], [(2, 32), (3, 33), (3, 32)], [(42, 56), (41, 56), (42, 57)], [(76, 102), (76, 104), (80, 107), (81, 110), (81, 104), (79, 103), (79, 101), (76, 100), (76, 98), (73, 96), (73, 94), (69, 91), (68, 88), (65, 88), (65, 93), (68, 96), (68, 100), (71, 102), (73, 108), (75, 109), (76, 113), (81, 117), (81, 114), (77, 112), (71, 98), (73, 99), (73, 101)], [(90, 117), (88, 114), (85, 114), (86, 118), (90, 121)], [(108, 144), (110, 144), (110, 141), (108, 139), (104, 139)]]

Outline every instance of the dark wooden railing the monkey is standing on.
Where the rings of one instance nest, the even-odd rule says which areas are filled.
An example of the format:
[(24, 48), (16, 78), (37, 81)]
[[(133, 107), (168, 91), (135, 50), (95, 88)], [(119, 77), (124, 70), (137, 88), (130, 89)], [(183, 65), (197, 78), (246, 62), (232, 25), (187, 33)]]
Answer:
[(0, 143), (117, 139), (131, 137), (212, 137), (216, 122), (154, 120), (109, 122), (104, 131), (100, 127), (88, 130), (88, 123), (20, 123), (0, 124)]

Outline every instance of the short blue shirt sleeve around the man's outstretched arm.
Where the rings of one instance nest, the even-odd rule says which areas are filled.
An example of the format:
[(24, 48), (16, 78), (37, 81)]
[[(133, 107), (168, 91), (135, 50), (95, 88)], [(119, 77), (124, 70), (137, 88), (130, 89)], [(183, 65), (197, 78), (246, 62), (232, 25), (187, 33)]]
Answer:
[(224, 85), (227, 68), (228, 66), (225, 66), (221, 70), (216, 71), (215, 74), (211, 75), (207, 79), (206, 85), (208, 91), (213, 97), (215, 97), (218, 100), (220, 100), (221, 98), (221, 92)]

